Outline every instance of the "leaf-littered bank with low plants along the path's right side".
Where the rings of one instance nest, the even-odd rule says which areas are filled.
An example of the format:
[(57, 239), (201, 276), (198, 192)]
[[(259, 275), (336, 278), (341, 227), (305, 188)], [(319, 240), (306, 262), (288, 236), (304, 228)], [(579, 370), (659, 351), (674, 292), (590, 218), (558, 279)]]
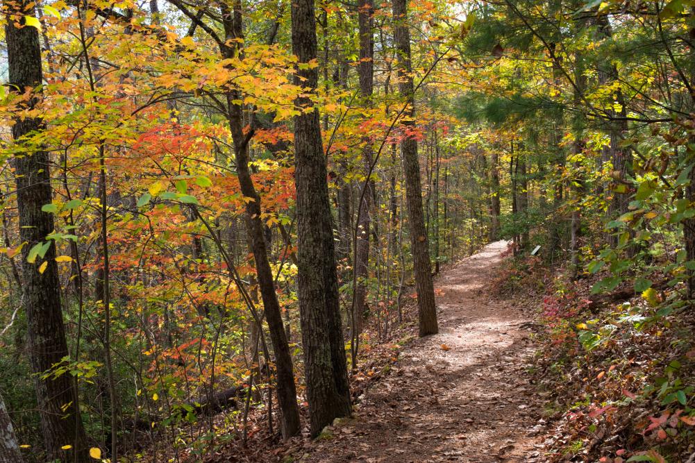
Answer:
[(547, 400), (551, 462), (695, 461), (695, 343), (689, 306), (664, 310), (678, 289), (591, 294), (537, 257), (507, 259), (493, 281), (504, 298), (537, 301), (532, 374)]

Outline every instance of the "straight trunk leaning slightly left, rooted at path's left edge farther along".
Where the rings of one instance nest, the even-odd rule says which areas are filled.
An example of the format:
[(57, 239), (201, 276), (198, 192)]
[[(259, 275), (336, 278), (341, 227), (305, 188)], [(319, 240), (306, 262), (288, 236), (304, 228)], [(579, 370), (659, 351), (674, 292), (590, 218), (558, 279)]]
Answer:
[(393, 22), (395, 46), (398, 50), (398, 90), (407, 99), (409, 108), (401, 122), (404, 136), (400, 142), (403, 158), (405, 195), (410, 223), (410, 242), (413, 252), (415, 283), (418, 291), (418, 319), (420, 336), (436, 334), (439, 327), (434, 305), (434, 285), (432, 284), (432, 263), (430, 245), (427, 243), (427, 230), (423, 216), (423, 196), (420, 186), (420, 162), (418, 161), (418, 142), (411, 133), (414, 127), (415, 88), (413, 84), (410, 54), (410, 31), (407, 22), (407, 0), (393, 0)]

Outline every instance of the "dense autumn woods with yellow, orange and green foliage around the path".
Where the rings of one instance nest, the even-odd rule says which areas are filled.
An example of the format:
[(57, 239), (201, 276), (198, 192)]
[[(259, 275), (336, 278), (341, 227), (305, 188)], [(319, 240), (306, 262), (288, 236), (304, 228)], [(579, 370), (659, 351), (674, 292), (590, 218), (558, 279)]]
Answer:
[(250, 414), (316, 437), (404, 304), (436, 333), (432, 275), (499, 239), (498, 286), (547, 296), (557, 378), (661, 344), (585, 412), (648, 404), (633, 461), (687, 448), (692, 0), (7, 0), (3, 19), (0, 461), (202, 458), (252, 439)]

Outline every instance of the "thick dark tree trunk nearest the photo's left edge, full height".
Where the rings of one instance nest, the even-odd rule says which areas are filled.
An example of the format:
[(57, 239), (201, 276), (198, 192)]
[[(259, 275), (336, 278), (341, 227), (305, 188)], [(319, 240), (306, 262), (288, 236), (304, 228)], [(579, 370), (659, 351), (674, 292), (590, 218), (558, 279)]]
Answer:
[[(41, 49), (38, 30), (27, 24), (34, 19), (33, 1), (5, 1), (8, 71), (10, 88), (29, 90), (26, 109), (33, 109), (42, 100)], [(34, 19), (35, 20), (35, 19)], [(56, 263), (56, 247), (47, 236), (54, 231), (51, 213), (41, 210), (52, 200), (49, 155), (27, 136), (44, 129), (40, 117), (17, 117), (12, 127), (15, 139), (15, 179), (19, 240), (22, 247), (24, 279), (24, 310), (28, 330), (28, 352), (35, 373), (36, 396), (41, 428), (49, 460), (65, 462), (88, 460), (87, 445), (77, 407), (76, 383), (70, 375), (44, 378), (68, 356), (63, 313), (60, 309), (60, 281)], [(29, 251), (40, 243), (50, 243), (41, 259), (28, 261)], [(35, 256), (33, 256), (35, 257)], [(39, 266), (45, 265), (42, 272)]]

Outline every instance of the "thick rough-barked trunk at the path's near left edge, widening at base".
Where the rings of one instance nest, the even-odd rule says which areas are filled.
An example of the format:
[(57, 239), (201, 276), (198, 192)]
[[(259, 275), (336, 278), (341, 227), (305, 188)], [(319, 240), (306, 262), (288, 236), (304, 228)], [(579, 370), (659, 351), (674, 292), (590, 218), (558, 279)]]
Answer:
[[(297, 55), (296, 81), (316, 91), (316, 18), (313, 0), (292, 2), (292, 48)], [(326, 158), (318, 110), (310, 97), (300, 97), (304, 108), (295, 117), (295, 182), (299, 236), (297, 295), (299, 296), (309, 401), (311, 435), (339, 416), (350, 414), (350, 386), (343, 328), (338, 307), (338, 277), (334, 254), (333, 218), (328, 198)]]

